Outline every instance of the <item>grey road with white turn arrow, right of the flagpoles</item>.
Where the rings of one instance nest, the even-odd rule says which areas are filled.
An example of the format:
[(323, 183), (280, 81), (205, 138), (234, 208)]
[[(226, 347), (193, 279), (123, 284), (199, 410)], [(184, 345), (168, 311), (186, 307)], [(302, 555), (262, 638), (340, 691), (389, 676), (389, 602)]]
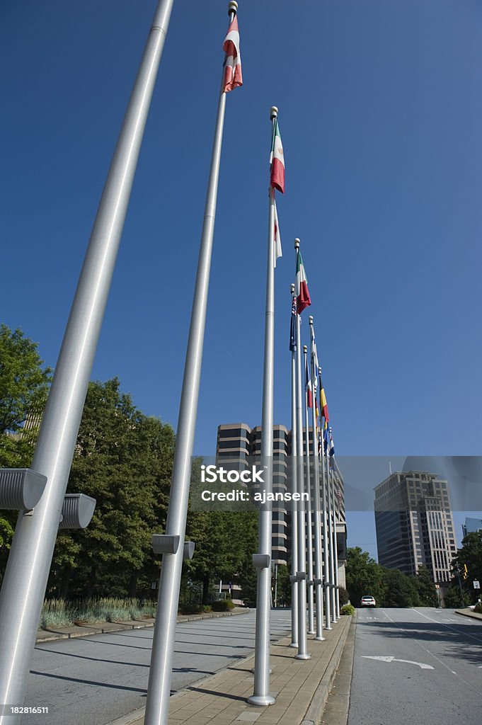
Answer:
[(446, 609), (358, 610), (348, 725), (481, 720), (482, 623)]

